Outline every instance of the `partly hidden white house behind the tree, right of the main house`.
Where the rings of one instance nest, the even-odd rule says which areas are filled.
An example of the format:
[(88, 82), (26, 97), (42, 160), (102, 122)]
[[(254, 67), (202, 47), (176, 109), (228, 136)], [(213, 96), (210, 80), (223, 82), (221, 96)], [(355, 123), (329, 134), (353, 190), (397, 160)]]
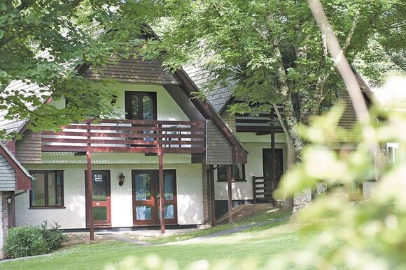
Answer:
[[(235, 98), (230, 89), (218, 86), (208, 87), (210, 82), (209, 73), (200, 68), (186, 68), (188, 75), (201, 91), (207, 93), (207, 100), (224, 121), (228, 128), (237, 136), (242, 146), (248, 151), (246, 164), (232, 165), (232, 202), (234, 206), (239, 204), (250, 204), (257, 202), (280, 203), (282, 198), (274, 198), (273, 192), (279, 184), (283, 172), (292, 163), (288, 147), (288, 140), (283, 130), (286, 127), (283, 115), (283, 107), (272, 108), (270, 112), (262, 112), (258, 116), (250, 114), (230, 115), (228, 107), (244, 100)], [(353, 70), (358, 80), (358, 84), (363, 91), (363, 96), (370, 105), (372, 92), (362, 79)], [(337, 93), (337, 98), (346, 106), (344, 114), (339, 122), (340, 128), (351, 128), (357, 123), (356, 114), (346, 89)], [(279, 109), (278, 109), (279, 108)], [(276, 110), (278, 110), (276, 112)], [(280, 114), (282, 121), (277, 114)], [(349, 138), (351, 141), (351, 138)], [(337, 142), (337, 149), (342, 149), (343, 143)], [(356, 143), (345, 142), (346, 149), (355, 149)], [(215, 211), (216, 217), (228, 212), (228, 183), (225, 177), (225, 167), (218, 167), (214, 174), (215, 182)], [(374, 181), (372, 181), (374, 182)], [(364, 191), (369, 196), (370, 187), (373, 183), (365, 181), (360, 191)]]

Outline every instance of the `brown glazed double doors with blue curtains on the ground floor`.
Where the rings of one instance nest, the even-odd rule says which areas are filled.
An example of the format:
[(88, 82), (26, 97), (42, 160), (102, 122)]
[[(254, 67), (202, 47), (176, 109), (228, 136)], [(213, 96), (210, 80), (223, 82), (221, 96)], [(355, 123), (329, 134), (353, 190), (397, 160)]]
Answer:
[[(158, 170), (132, 171), (134, 225), (160, 224)], [(164, 171), (165, 223), (177, 223), (176, 171)]]

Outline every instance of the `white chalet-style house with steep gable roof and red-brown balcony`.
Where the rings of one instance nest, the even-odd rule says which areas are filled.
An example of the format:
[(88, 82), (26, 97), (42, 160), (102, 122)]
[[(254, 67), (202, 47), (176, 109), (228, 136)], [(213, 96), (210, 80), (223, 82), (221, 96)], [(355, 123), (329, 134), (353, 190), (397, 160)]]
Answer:
[[(94, 227), (165, 232), (210, 223), (212, 168), (244, 164), (247, 151), (207, 101), (190, 99), (198, 89), (188, 75), (140, 59), (121, 59), (102, 72), (81, 66), (78, 73), (95, 85), (101, 77), (117, 80), (120, 117), (41, 133), (27, 130), (25, 121), (1, 123), (22, 134), (8, 146), (33, 177), (29, 193), (15, 197), (15, 225), (46, 220), (92, 235)], [(20, 87), (27, 86), (8, 90)], [(231, 170), (225, 174), (231, 190)]]

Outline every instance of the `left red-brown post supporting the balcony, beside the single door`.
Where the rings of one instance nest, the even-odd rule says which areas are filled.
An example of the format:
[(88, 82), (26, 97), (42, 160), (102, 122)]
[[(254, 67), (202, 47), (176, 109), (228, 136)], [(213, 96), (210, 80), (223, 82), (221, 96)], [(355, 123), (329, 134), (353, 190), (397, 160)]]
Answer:
[(93, 226), (93, 185), (92, 185), (92, 146), (90, 143), (90, 121), (87, 121), (87, 222), (89, 223), (90, 241), (94, 240)]

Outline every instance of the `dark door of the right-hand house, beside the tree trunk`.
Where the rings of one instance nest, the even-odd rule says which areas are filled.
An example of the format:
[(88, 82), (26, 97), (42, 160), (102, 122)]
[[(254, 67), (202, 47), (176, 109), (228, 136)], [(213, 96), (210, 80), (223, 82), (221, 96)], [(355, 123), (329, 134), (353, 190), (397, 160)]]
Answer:
[(272, 193), (279, 185), (279, 179), (283, 174), (283, 150), (275, 149), (276, 179), (273, 180), (272, 149), (262, 149), (262, 164), (264, 167), (264, 191), (265, 200), (272, 200)]

